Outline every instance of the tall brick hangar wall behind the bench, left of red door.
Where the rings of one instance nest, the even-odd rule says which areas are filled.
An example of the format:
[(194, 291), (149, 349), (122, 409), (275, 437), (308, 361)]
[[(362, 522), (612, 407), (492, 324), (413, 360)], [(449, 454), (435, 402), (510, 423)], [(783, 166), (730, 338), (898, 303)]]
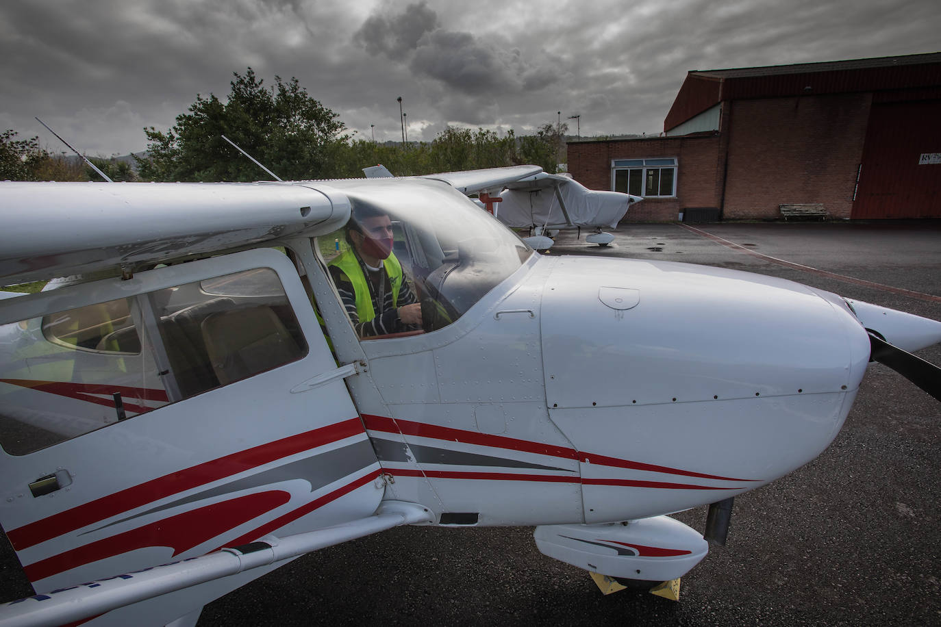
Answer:
[(782, 203), (823, 203), (849, 218), (871, 94), (726, 102), (723, 218), (776, 219)]

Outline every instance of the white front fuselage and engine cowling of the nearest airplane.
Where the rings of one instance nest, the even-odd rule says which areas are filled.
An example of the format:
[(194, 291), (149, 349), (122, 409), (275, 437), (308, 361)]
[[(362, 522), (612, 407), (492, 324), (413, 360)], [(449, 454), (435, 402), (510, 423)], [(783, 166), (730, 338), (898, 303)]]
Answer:
[(789, 281), (575, 257), (519, 272), (433, 335), (363, 343), (389, 415), (360, 412), (400, 497), (490, 525), (715, 502), (816, 457), (868, 362), (849, 307)]

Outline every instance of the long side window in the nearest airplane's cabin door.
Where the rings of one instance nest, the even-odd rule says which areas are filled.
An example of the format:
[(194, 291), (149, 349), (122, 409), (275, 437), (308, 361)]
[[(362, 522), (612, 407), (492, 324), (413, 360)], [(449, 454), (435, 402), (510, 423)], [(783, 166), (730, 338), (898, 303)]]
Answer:
[(266, 268), (3, 324), (0, 446), (30, 453), (307, 351)]

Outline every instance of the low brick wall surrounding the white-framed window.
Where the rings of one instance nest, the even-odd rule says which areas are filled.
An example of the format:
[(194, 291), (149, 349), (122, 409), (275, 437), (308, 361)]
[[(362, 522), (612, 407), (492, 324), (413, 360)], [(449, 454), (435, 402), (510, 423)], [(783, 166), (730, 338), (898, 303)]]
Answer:
[(675, 157), (677, 196), (647, 198), (622, 222), (668, 222), (688, 207), (718, 207), (724, 163), (716, 135), (645, 137), (620, 141), (573, 142), (567, 147), (568, 171), (589, 189), (612, 189), (614, 159)]

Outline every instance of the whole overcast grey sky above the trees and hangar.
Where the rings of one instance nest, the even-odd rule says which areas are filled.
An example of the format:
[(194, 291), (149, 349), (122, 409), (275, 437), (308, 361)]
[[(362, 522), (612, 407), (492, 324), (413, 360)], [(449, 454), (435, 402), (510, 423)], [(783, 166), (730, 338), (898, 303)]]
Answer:
[[(459, 6), (463, 5), (463, 6)], [(941, 50), (936, 0), (4, 0), (0, 130), (108, 156), (146, 148), (251, 67), (296, 76), (357, 136), (445, 124), (659, 133), (686, 72)]]

